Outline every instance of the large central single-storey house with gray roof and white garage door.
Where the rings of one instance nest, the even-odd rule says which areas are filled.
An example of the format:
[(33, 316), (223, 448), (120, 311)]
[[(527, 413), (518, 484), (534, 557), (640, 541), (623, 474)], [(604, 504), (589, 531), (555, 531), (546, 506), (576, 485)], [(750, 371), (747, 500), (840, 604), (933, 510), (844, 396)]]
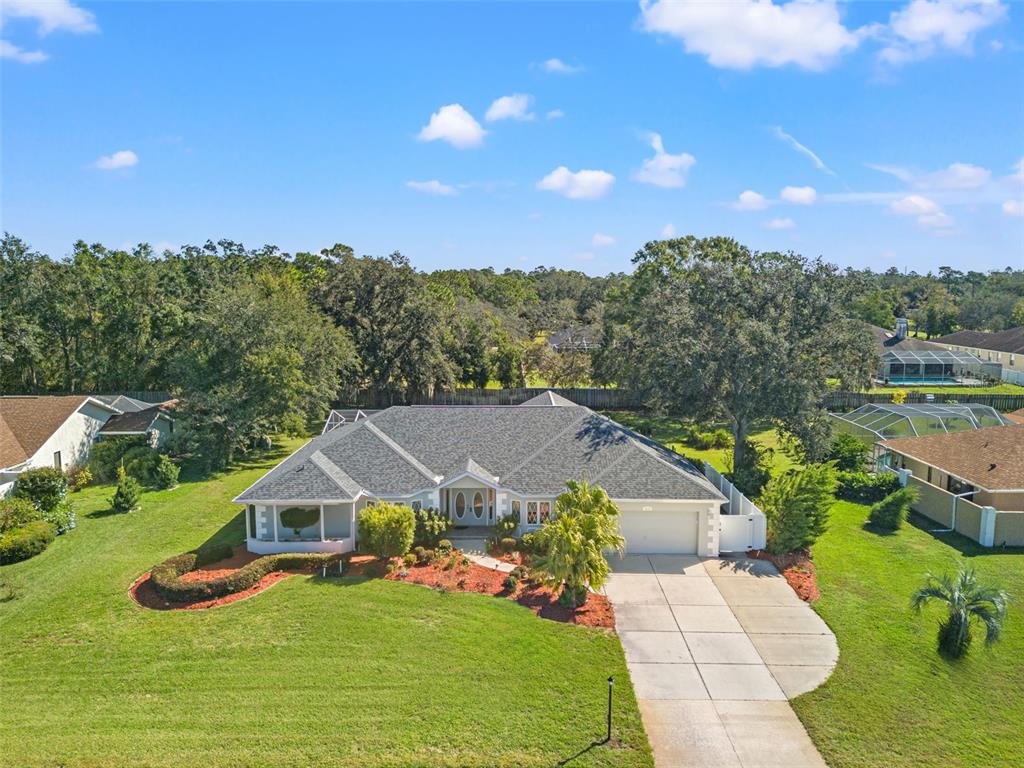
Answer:
[[(716, 556), (725, 497), (679, 455), (552, 392), (519, 406), (404, 406), (313, 438), (234, 501), (251, 552), (348, 552), (377, 500), (432, 508), (481, 536), (505, 515), (518, 531), (553, 514), (566, 480), (601, 485), (630, 552)], [(292, 507), (316, 522), (282, 524)], [(763, 544), (763, 543), (762, 543)]]

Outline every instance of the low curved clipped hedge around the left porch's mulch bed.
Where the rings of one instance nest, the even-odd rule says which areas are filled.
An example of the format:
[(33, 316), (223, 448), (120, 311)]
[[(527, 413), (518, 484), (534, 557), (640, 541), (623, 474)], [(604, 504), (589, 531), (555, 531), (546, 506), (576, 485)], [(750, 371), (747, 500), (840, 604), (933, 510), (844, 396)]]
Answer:
[(333, 554), (300, 554), (285, 553), (266, 555), (253, 560), (232, 573), (205, 582), (184, 581), (185, 573), (209, 563), (217, 562), (231, 556), (231, 548), (227, 546), (207, 547), (205, 549), (185, 552), (176, 555), (154, 567), (150, 579), (157, 592), (165, 600), (176, 603), (211, 600), (224, 595), (231, 595), (254, 587), (259, 581), (274, 570), (301, 570), (319, 568), (338, 560)]

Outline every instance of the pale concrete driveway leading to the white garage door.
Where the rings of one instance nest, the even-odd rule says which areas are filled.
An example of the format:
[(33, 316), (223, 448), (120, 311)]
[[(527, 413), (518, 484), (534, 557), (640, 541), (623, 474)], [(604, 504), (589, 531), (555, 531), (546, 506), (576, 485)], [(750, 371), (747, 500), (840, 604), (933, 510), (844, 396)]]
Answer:
[(790, 698), (836, 638), (771, 563), (628, 555), (605, 592), (657, 766), (823, 768)]

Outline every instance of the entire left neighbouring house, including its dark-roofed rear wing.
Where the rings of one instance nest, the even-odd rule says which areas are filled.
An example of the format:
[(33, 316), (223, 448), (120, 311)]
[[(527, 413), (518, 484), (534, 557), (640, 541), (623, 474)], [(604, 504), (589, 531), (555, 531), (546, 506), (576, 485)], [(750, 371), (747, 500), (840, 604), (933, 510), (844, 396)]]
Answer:
[(28, 469), (65, 471), (85, 464), (92, 444), (104, 436), (145, 435), (157, 445), (172, 429), (171, 417), (159, 406), (123, 396), (2, 396), (0, 497), (9, 494), (17, 476)]

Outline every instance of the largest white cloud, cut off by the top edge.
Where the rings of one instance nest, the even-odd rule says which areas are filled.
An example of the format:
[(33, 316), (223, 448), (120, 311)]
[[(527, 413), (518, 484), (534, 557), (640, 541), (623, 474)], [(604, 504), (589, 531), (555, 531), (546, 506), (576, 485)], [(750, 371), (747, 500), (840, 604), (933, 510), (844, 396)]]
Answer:
[(641, 0), (640, 16), (647, 32), (677, 38), (688, 53), (730, 70), (785, 65), (823, 70), (860, 42), (833, 2)]

